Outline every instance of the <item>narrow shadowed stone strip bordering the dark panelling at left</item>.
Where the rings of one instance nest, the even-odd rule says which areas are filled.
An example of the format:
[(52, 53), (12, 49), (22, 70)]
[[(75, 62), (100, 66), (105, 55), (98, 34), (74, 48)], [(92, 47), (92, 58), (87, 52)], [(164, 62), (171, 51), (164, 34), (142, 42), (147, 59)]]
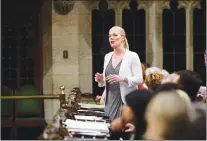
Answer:
[[(52, 1), (43, 1), (41, 7), (42, 52), (43, 52), (43, 94), (53, 94), (52, 79)], [(52, 121), (53, 100), (44, 100), (44, 117), (47, 123)]]

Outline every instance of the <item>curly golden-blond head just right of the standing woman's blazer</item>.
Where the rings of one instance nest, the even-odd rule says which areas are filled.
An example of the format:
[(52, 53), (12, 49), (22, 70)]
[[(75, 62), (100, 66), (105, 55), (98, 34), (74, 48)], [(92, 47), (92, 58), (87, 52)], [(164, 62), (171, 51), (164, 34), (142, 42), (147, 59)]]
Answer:
[(160, 73), (150, 73), (149, 75), (145, 76), (144, 83), (150, 90), (154, 92), (161, 85), (163, 77), (164, 76)]

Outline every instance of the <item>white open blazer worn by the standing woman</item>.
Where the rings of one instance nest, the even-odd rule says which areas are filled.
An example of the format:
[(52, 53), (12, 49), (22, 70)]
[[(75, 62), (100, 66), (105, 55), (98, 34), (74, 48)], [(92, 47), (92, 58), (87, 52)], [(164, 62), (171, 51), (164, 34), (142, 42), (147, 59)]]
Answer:
[[(98, 82), (99, 87), (106, 86), (105, 70), (112, 55), (113, 52), (110, 52), (104, 57), (103, 81)], [(128, 83), (120, 82), (121, 98), (123, 103), (126, 104), (125, 96), (136, 90), (137, 86), (143, 82), (141, 62), (137, 53), (126, 50), (120, 66), (119, 76), (128, 79)]]

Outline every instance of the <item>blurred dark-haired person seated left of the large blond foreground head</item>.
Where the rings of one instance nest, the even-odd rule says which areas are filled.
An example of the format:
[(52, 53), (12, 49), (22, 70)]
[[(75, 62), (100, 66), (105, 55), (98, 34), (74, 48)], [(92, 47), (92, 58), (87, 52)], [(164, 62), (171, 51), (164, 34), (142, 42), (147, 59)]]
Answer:
[(112, 130), (134, 132), (134, 139), (142, 139), (146, 129), (145, 109), (152, 98), (148, 90), (135, 90), (126, 95), (127, 104), (122, 107), (121, 117), (112, 121)]

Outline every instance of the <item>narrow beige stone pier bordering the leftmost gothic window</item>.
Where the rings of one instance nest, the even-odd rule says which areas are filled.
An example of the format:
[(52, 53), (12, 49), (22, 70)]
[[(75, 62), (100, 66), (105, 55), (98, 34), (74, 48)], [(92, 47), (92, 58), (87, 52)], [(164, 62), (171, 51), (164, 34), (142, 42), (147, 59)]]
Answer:
[(79, 5), (79, 87), (81, 92), (92, 93), (92, 33), (89, 1), (81, 1)]

